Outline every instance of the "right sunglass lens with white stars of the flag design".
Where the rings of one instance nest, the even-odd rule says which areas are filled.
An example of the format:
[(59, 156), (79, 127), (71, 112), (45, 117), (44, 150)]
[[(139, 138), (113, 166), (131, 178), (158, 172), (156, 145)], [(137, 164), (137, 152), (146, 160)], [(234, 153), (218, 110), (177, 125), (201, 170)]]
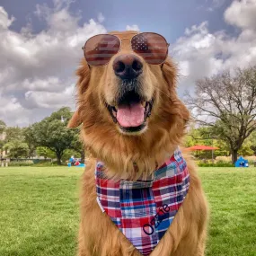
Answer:
[(155, 33), (141, 33), (131, 40), (131, 47), (148, 64), (163, 63), (168, 54), (168, 44), (163, 36)]

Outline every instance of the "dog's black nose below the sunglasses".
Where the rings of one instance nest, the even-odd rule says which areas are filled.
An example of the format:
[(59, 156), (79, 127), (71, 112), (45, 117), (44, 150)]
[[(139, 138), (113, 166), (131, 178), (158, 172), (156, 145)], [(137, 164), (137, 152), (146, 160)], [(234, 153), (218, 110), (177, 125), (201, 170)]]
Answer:
[(134, 54), (123, 54), (113, 62), (115, 74), (121, 79), (133, 79), (142, 73), (143, 64)]

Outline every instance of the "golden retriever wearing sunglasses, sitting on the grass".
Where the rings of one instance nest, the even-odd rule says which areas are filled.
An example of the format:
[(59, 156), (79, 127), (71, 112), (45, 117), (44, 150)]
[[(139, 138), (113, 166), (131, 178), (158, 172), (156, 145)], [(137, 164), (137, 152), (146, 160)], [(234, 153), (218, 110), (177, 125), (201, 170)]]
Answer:
[[(133, 242), (132, 235), (138, 234), (137, 231), (133, 233), (136, 229), (128, 228), (124, 235), (110, 218), (110, 207), (107, 213), (108, 206), (104, 208), (99, 203), (97, 181), (100, 178), (95, 178), (99, 168), (102, 169), (97, 173), (104, 175), (107, 184), (144, 184), (143, 189), (133, 190), (137, 193), (151, 191), (153, 183), (147, 182), (147, 177), (154, 177), (163, 163), (175, 162), (172, 156), (182, 145), (190, 113), (177, 96), (177, 67), (168, 57), (168, 47), (162, 36), (137, 31), (113, 31), (95, 36), (84, 45), (84, 58), (77, 70), (77, 110), (69, 121), (70, 128), (82, 124), (84, 146), (93, 155), (86, 163), (82, 181), (79, 256), (205, 255), (207, 201), (196, 168), (188, 156), (184, 155), (185, 160), (181, 156), (181, 159), (184, 170), (190, 175), (189, 189), (152, 250), (138, 250), (134, 243), (151, 241), (148, 237), (154, 235), (156, 220), (159, 225), (162, 214), (157, 212), (154, 221), (143, 225), (152, 232), (145, 230), (146, 234), (136, 238), (140, 242)], [(167, 178), (172, 179), (171, 176)], [(168, 190), (168, 186), (165, 189)], [(119, 189), (116, 191), (119, 193)], [(127, 190), (125, 196), (130, 192)], [(116, 200), (119, 205), (121, 199)], [(140, 203), (143, 204), (143, 200)], [(170, 207), (164, 204), (159, 212), (168, 214)], [(146, 213), (146, 208), (141, 207), (137, 216), (152, 217), (151, 212)], [(131, 219), (128, 225), (136, 226), (137, 220)], [(124, 224), (121, 228), (125, 230)]]

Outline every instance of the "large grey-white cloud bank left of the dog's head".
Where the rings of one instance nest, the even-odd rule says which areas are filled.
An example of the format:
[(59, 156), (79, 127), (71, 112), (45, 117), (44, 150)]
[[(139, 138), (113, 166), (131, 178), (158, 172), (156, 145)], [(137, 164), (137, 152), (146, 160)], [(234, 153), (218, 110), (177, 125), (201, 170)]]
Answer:
[[(72, 1), (53, 0), (53, 8), (37, 4), (35, 15), (47, 28), (33, 34), (31, 22), (21, 32), (9, 29), (14, 21), (0, 6), (0, 119), (8, 125), (27, 125), (63, 105), (75, 107), (75, 69), (89, 37), (106, 32), (91, 19), (79, 24)], [(25, 117), (25, 118), (24, 118)]]

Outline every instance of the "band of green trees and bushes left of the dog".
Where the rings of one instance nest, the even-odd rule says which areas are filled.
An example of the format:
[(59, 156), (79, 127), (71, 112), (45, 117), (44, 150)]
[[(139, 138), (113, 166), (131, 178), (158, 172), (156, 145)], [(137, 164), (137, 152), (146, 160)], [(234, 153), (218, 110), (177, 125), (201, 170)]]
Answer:
[(66, 160), (70, 157), (67, 157), (67, 154), (75, 154), (84, 159), (79, 130), (66, 128), (71, 117), (71, 110), (65, 107), (28, 128), (5, 128), (4, 122), (0, 120), (0, 128), (4, 127), (6, 133), (5, 140), (0, 141), (0, 148), (4, 146), (5, 149), (9, 149), (10, 157), (31, 157), (37, 153), (46, 158), (57, 158), (58, 164), (61, 163), (61, 159)]

